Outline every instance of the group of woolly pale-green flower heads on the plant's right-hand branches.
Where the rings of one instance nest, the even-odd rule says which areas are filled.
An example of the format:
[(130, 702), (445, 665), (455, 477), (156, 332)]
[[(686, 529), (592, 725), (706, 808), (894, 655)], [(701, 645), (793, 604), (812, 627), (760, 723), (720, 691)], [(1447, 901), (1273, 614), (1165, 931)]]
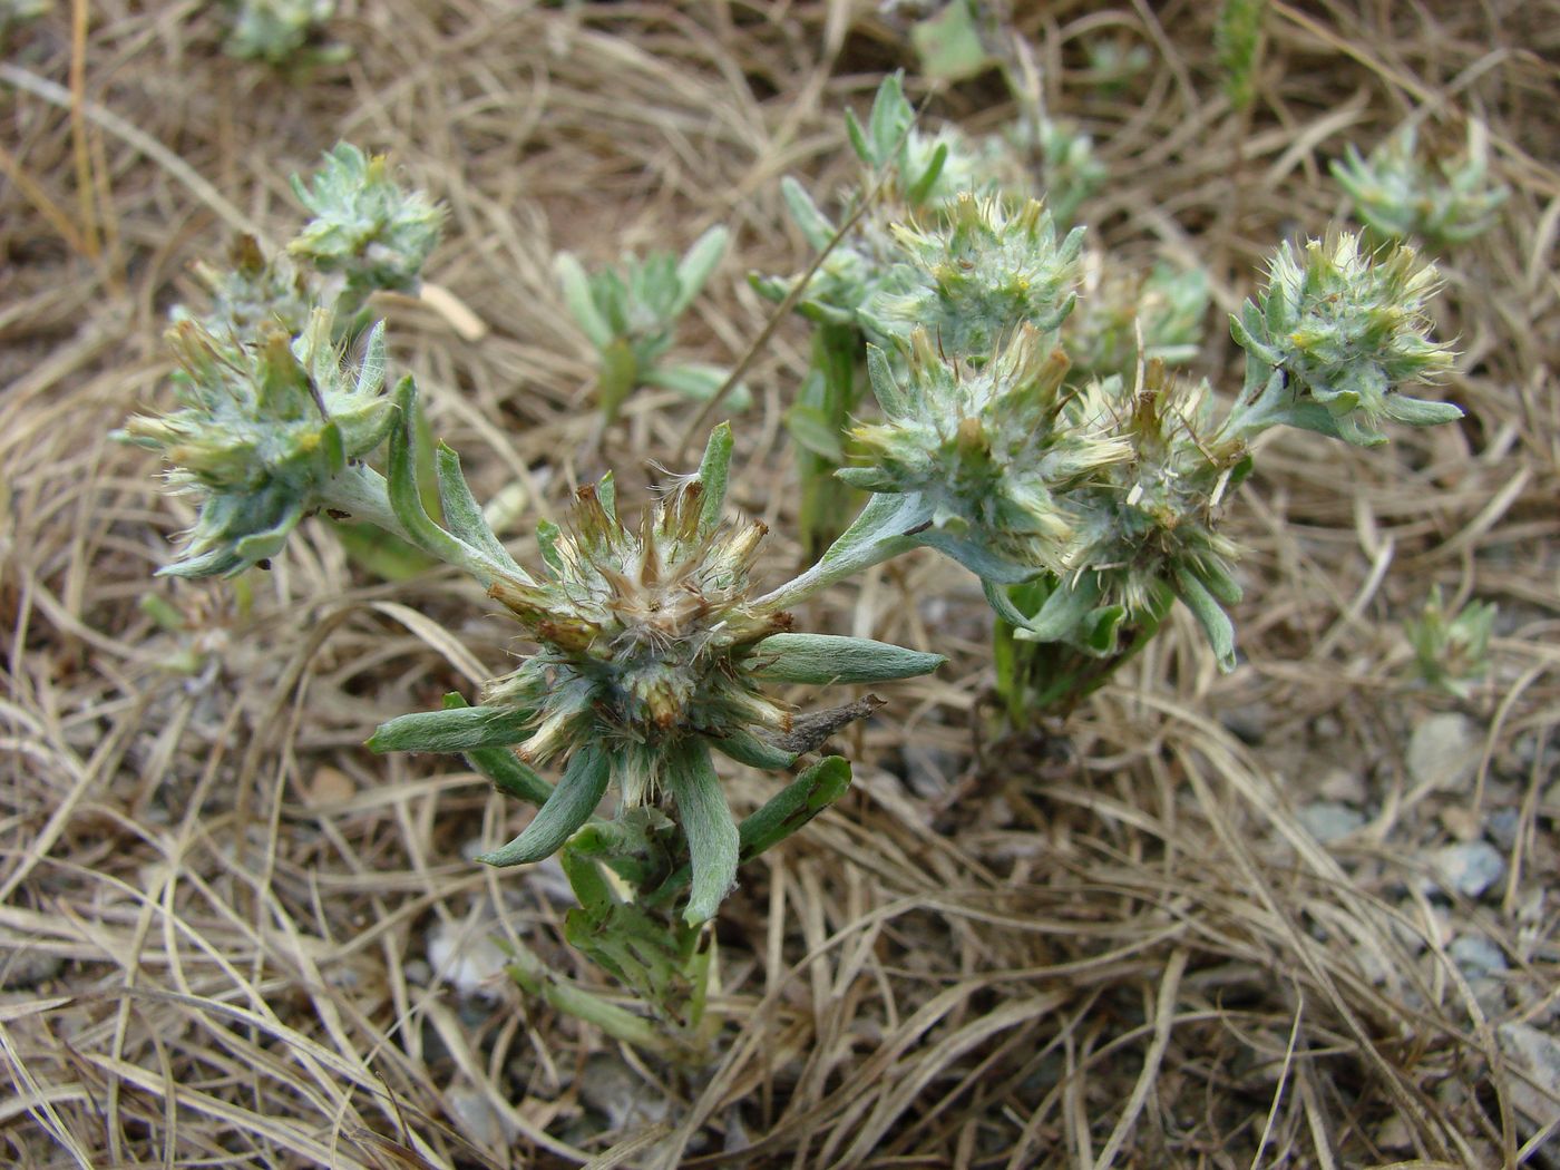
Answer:
[[(866, 465), (838, 476), (911, 498), (897, 523), (917, 523), (919, 543), (981, 576), (1020, 640), (1114, 654), (1120, 629), (1156, 624), (1179, 597), (1232, 668), (1223, 607), (1240, 596), (1237, 549), (1218, 535), (1217, 512), (1250, 470), (1250, 441), (1282, 423), (1374, 445), (1387, 420), (1462, 415), (1402, 393), (1451, 360), (1424, 312), (1435, 271), (1406, 246), (1371, 256), (1351, 236), (1282, 246), (1234, 323), (1246, 387), (1218, 420), (1206, 384), (1175, 381), (1151, 354), (1126, 376), (1069, 378), (1051, 345), (1058, 329), (1069, 337), (1080, 240), (1058, 240), (1037, 204), (1005, 215), (966, 197), (897, 237), (911, 275), (877, 293), (870, 315), (920, 320), (934, 334), (913, 331), (892, 360), (869, 351), (885, 421), (853, 429)], [(1184, 357), (1172, 339), (1195, 337), (1206, 290), (1165, 279), (1154, 332)], [(1137, 289), (1148, 301), (1147, 282)], [(1039, 613), (1019, 613), (998, 588), (1036, 579), (1050, 582)]]

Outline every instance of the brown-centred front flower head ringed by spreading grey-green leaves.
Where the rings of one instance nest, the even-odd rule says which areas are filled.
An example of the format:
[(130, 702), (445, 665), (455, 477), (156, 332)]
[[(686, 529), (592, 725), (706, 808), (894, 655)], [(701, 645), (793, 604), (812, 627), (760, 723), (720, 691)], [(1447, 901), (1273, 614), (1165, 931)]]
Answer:
[(764, 527), (721, 521), (730, 454), (722, 424), (699, 473), (638, 527), (618, 518), (610, 477), (582, 488), (568, 526), (540, 534), (544, 571), (490, 588), (537, 652), (491, 682), (480, 707), (402, 716), (370, 741), (378, 750), (446, 752), (513, 744), (527, 763), (566, 761), (526, 831), (484, 861), (548, 856), (616, 785), (624, 810), (675, 810), (693, 866), (685, 917), (702, 922), (732, 888), (738, 861), (711, 749), (777, 769), (816, 746), (788, 735), (803, 727), (764, 688), (908, 679), (942, 663), (866, 638), (789, 633), (791, 615), (752, 601), (749, 571)]

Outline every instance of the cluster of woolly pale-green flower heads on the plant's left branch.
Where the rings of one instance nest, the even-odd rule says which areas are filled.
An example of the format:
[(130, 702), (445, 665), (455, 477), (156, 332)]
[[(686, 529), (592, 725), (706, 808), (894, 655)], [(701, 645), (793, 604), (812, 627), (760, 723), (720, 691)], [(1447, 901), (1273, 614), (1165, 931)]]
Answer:
[(384, 393), (384, 329), (348, 349), (376, 289), (412, 289), (443, 218), (398, 187), (384, 158), (342, 144), (312, 184), (293, 176), (314, 212), (287, 251), (267, 257), (250, 236), (226, 267), (197, 264), (204, 309), (176, 306), (168, 342), (179, 409), (131, 418), (122, 438), (159, 448), (170, 479), (200, 501), (178, 558), (162, 573), (231, 576), (265, 563), (331, 488), (365, 474), (356, 462), (393, 427)]

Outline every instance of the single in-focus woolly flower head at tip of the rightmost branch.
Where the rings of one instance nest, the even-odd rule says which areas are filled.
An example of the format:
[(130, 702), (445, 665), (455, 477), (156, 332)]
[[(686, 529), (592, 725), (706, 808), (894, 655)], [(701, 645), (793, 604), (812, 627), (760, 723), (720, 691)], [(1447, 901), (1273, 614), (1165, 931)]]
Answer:
[(1455, 406), (1401, 393), (1451, 367), (1424, 312), (1437, 285), (1435, 267), (1404, 245), (1371, 256), (1349, 234), (1310, 240), (1298, 254), (1285, 243), (1231, 331), (1251, 360), (1282, 373), (1293, 402), (1282, 421), (1376, 446), (1387, 441), (1384, 420), (1462, 418)]

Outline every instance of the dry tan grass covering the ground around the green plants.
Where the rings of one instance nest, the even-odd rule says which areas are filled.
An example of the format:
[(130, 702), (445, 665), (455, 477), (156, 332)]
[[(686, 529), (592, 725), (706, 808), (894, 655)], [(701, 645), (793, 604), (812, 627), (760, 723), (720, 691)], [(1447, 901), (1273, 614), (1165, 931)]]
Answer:
[[(501, 669), (509, 630), (474, 591), (367, 582), (314, 530), (248, 610), (225, 583), (154, 583), (189, 512), (106, 432), (164, 393), (184, 265), (239, 226), (284, 236), (285, 175), (346, 137), (451, 209), (431, 278), (490, 332), (385, 310), (479, 495), (519, 485), (529, 527), (607, 465), (643, 491), (690, 410), (643, 396), (599, 434), (552, 251), (602, 261), (732, 225), (741, 261), (690, 340), (735, 360), (764, 320), (739, 267), (805, 259), (780, 175), (844, 179), (838, 111), (903, 45), (844, 2), (346, 0), (353, 59), (289, 84), (222, 58), (207, 5), (105, 0), (80, 36), (84, 2), (56, 8), (0, 66), (0, 1161), (1560, 1161), (1533, 1128), (1555, 1108), (1541, 1078), (1498, 1039), (1554, 1036), (1560, 1011), (1560, 6), (1275, 2), (1242, 134), (1212, 5), (1017, 5), (1045, 12), (1023, 23), (1053, 111), (1111, 162), (1098, 236), (1201, 256), (1223, 310), (1273, 240), (1340, 211), (1324, 161), (1343, 140), (1415, 111), (1487, 119), (1513, 195), (1446, 264), (1438, 309), (1470, 421), (1368, 456), (1275, 443), (1231, 516), (1251, 548), (1240, 671), (1217, 677), (1176, 629), (1044, 739), (977, 733), (986, 616), (959, 573), (914, 558), (819, 604), (817, 629), (955, 661), (892, 691), (855, 744), (856, 791), (746, 875), (721, 924), (729, 1023), (697, 1075), (429, 963), (434, 931), (513, 931), (594, 978), (540, 875), (465, 860), (507, 816), (477, 777), (359, 746)], [(1095, 36), (1153, 51), (1125, 97), (1076, 84)], [(998, 101), (975, 84), (934, 111), (992, 126)], [(778, 532), (780, 412), (803, 367), (786, 323), (739, 429), (736, 501)], [(778, 573), (796, 549), (772, 555)], [(1406, 685), (1401, 621), (1431, 582), (1502, 610), (1491, 680), (1462, 708), (1476, 775), (1449, 791), (1404, 766), (1437, 704)], [(186, 633), (142, 615), (148, 591)], [(195, 674), (170, 669), (190, 654)], [(735, 780), (736, 799), (764, 783)], [(1296, 810), (1340, 785), (1371, 819), (1323, 846)], [(1504, 885), (1426, 895), (1432, 849), (1494, 817)], [(1448, 955), (1465, 933), (1507, 961), (1485, 986)]]

